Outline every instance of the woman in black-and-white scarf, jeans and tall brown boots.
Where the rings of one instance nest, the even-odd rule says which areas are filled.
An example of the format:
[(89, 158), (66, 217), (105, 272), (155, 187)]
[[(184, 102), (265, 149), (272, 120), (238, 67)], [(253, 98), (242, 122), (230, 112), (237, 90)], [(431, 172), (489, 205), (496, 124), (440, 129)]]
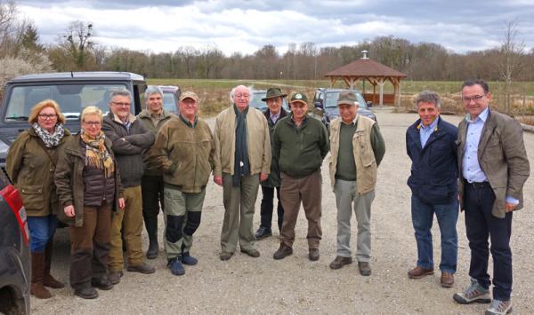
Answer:
[(30, 293), (45, 299), (52, 297), (45, 287), (65, 287), (50, 274), (59, 209), (53, 173), (70, 132), (63, 127), (65, 117), (52, 99), (37, 103), (28, 122), (31, 127), (20, 133), (7, 153), (5, 169), (19, 189), (28, 214)]

